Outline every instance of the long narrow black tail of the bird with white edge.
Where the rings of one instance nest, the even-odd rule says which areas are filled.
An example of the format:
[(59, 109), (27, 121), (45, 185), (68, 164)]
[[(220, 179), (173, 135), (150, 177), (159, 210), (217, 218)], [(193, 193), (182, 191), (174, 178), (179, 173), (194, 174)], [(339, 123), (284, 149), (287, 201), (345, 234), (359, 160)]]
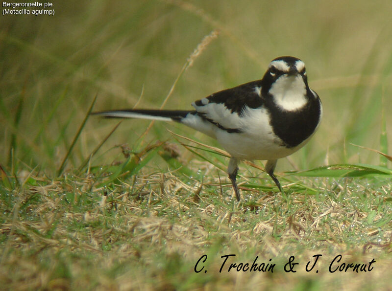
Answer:
[(142, 118), (162, 121), (181, 122), (189, 113), (195, 111), (186, 110), (149, 110), (149, 109), (125, 109), (93, 112), (92, 115), (99, 115), (106, 118)]

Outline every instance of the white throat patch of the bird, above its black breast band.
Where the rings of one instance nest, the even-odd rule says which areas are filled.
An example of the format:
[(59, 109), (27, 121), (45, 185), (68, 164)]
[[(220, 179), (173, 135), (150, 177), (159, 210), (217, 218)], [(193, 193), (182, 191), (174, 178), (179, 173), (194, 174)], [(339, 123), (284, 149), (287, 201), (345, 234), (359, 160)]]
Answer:
[(270, 88), (275, 103), (285, 111), (296, 111), (306, 103), (306, 86), (300, 75), (280, 76)]

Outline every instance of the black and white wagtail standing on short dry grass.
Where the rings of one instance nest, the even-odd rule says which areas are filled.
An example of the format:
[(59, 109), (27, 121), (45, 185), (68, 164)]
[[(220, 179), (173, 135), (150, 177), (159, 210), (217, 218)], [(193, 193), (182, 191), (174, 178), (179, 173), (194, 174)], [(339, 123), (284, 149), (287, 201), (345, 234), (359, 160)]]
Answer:
[(321, 101), (308, 86), (304, 62), (289, 56), (272, 60), (261, 80), (213, 93), (192, 106), (195, 109), (187, 111), (130, 109), (93, 114), (176, 121), (217, 139), (231, 155), (227, 172), (238, 201), (238, 163), (267, 160), (265, 170), (282, 192), (273, 174), (277, 159), (303, 147), (322, 116)]

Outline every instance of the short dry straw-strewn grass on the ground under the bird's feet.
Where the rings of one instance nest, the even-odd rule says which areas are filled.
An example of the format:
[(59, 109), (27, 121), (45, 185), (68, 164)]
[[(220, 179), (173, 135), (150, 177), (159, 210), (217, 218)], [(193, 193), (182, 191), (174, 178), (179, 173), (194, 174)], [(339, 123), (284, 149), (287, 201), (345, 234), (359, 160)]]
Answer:
[[(237, 204), (225, 177), (205, 177), (200, 187), (170, 172), (150, 173), (106, 188), (95, 187), (93, 174), (33, 179), (36, 185), (26, 183), (2, 202), (0, 280), (9, 289), (365, 290), (392, 283), (392, 225), (384, 221), (391, 184), (320, 179), (317, 195), (244, 192)], [(208, 272), (196, 273), (203, 254)], [(227, 264), (220, 273), (227, 254), (236, 254), (230, 263), (258, 256), (276, 267), (228, 272)], [(316, 254), (319, 272), (306, 272)], [(376, 263), (370, 272), (330, 273), (338, 254), (342, 262)], [(300, 265), (286, 273), (292, 255)]]

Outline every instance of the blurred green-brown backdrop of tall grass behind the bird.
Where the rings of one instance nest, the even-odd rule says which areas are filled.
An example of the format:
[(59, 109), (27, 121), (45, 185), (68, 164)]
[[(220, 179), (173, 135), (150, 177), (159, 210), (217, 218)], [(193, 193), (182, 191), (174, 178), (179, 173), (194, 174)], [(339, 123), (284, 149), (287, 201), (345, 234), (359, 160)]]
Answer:
[[(0, 17), (0, 164), (6, 168), (54, 173), (96, 94), (95, 110), (132, 108), (140, 97), (138, 108), (159, 108), (214, 29), (218, 39), (180, 77), (166, 109), (191, 109), (196, 99), (260, 79), (271, 59), (293, 55), (306, 63), (324, 105), (319, 132), (291, 157), (294, 167), (378, 164), (376, 153), (350, 143), (380, 149), (383, 111), (391, 136), (390, 0), (68, 0), (54, 1), (53, 9), (54, 16)], [(90, 118), (67, 167), (78, 167), (115, 124)], [(118, 157), (119, 150), (110, 150), (116, 144), (136, 146), (148, 124), (124, 121), (93, 162)], [(166, 128), (211, 143), (159, 122), (145, 140), (171, 138)], [(277, 168), (292, 169), (288, 161)]]

